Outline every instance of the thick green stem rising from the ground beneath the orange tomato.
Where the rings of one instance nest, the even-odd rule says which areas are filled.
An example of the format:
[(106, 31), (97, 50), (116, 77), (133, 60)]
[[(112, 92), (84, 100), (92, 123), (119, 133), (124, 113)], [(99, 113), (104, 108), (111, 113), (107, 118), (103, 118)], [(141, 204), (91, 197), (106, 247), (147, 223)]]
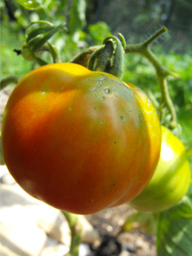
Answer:
[(81, 224), (75, 214), (62, 211), (71, 231), (70, 251), (65, 256), (78, 256), (79, 244), (81, 243)]

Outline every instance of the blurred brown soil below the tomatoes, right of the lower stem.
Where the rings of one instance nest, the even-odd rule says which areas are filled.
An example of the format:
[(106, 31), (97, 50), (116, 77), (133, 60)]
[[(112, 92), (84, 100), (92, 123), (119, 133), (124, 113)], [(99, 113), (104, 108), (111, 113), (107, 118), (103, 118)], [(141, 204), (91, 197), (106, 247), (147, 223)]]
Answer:
[[(87, 215), (86, 218), (93, 227), (97, 228), (101, 238), (100, 251), (99, 246), (93, 247), (92, 256), (156, 256), (156, 236), (149, 236), (143, 232), (139, 223), (134, 223), (132, 230), (121, 232), (121, 226), (125, 219), (134, 210), (129, 205), (124, 204), (120, 207), (105, 209), (95, 214)], [(118, 250), (120, 243), (121, 250)], [(110, 246), (110, 244), (112, 244)], [(106, 248), (103, 248), (103, 247)]]

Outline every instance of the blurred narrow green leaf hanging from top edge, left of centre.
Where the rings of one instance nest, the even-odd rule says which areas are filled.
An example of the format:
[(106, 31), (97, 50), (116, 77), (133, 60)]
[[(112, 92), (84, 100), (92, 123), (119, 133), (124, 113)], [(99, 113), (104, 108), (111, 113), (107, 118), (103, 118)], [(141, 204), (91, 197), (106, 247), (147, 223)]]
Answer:
[(69, 29), (70, 33), (74, 34), (78, 29), (82, 29), (86, 24), (86, 1), (73, 0), (70, 8)]

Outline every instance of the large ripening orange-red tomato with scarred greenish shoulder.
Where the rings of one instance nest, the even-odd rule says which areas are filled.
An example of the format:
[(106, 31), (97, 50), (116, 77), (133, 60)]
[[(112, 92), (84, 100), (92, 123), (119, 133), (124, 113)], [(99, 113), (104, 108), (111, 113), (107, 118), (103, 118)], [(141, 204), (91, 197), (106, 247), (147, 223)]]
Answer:
[(160, 156), (161, 125), (136, 86), (56, 63), (17, 84), (4, 110), (2, 143), (8, 170), (29, 195), (91, 214), (147, 186)]

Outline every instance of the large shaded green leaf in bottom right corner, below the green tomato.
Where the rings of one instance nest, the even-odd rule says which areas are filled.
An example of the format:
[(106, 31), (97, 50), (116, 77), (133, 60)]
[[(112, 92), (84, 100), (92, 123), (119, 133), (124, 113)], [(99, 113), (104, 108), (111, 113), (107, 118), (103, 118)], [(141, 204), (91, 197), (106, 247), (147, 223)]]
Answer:
[(192, 187), (180, 204), (159, 214), (158, 256), (192, 255)]

